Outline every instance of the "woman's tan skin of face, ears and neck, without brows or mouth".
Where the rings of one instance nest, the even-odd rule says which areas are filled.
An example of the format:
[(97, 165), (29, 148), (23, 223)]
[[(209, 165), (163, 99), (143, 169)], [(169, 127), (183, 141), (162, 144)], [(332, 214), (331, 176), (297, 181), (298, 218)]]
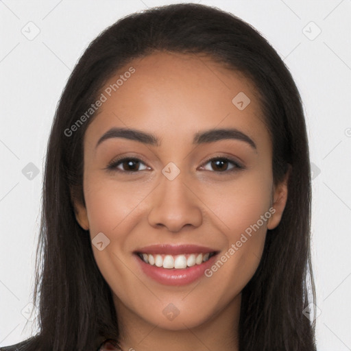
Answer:
[[(114, 295), (121, 346), (239, 350), (241, 291), (258, 267), (267, 228), (278, 226), (287, 201), (287, 178), (273, 184), (271, 140), (256, 90), (211, 58), (164, 52), (133, 60), (106, 87), (130, 66), (135, 73), (86, 130), (86, 207), (75, 203), (77, 221), (91, 239), (103, 232), (110, 240), (101, 251), (93, 245), (93, 252)], [(239, 92), (251, 100), (244, 110), (232, 104)], [(153, 133), (160, 146), (109, 138), (95, 148), (112, 127)], [(192, 144), (193, 134), (212, 128), (237, 128), (252, 138), (256, 150), (233, 139)], [(141, 160), (134, 173), (127, 162), (118, 165), (120, 172), (106, 169), (122, 154)], [(216, 168), (210, 160), (217, 156), (245, 169), (230, 171), (231, 162)], [(161, 172), (169, 162), (180, 169), (174, 180)], [(221, 256), (271, 207), (274, 215), (213, 276), (190, 285), (161, 285), (143, 274), (132, 254), (155, 243), (191, 243), (213, 247)], [(162, 313), (169, 303), (180, 312), (173, 320)]]

